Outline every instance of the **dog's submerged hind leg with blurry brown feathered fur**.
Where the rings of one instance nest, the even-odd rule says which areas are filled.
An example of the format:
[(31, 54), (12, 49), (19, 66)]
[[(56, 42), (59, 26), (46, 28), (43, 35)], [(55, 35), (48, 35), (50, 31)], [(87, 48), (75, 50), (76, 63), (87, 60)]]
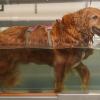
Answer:
[(18, 69), (17, 62), (14, 59), (1, 59), (0, 60), (0, 92), (9, 92), (11, 87), (16, 86), (18, 83)]

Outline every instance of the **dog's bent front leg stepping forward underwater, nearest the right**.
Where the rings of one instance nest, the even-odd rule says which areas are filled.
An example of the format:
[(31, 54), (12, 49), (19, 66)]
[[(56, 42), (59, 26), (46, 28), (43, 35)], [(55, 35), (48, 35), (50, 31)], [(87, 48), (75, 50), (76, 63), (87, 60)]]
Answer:
[(87, 68), (86, 65), (84, 65), (82, 62), (75, 67), (75, 70), (78, 72), (80, 75), (81, 81), (82, 81), (82, 87), (84, 90), (88, 89), (89, 85), (89, 80), (90, 80), (90, 73), (89, 69)]

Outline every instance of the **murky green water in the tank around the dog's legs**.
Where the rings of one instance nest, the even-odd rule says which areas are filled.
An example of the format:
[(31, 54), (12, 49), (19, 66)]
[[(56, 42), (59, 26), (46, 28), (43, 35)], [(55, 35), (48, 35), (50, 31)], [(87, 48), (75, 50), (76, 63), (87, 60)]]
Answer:
[[(3, 51), (4, 52), (4, 51)], [(0, 54), (1, 55), (1, 54)], [(1, 59), (1, 57), (0, 57)], [(90, 71), (90, 84), (88, 91), (100, 90), (100, 50), (94, 49), (93, 54), (87, 59), (83, 60), (83, 64), (86, 65)], [(0, 78), (0, 89), (2, 91), (12, 92), (49, 92), (54, 90), (54, 68), (45, 64), (34, 63), (19, 63), (16, 69), (13, 69), (16, 78), (16, 85), (12, 85), (13, 81), (6, 84), (6, 80), (11, 79), (11, 76), (4, 79)], [(17, 74), (16, 74), (17, 73)], [(2, 75), (2, 73), (0, 73)], [(5, 74), (3, 74), (5, 76)], [(9, 72), (8, 72), (8, 75)], [(14, 74), (12, 74), (14, 76)], [(5, 80), (6, 79), (6, 80)], [(5, 81), (4, 81), (5, 80)], [(14, 80), (14, 79), (13, 79)], [(3, 83), (3, 85), (2, 85)], [(6, 84), (6, 85), (4, 85)], [(9, 86), (10, 85), (10, 86)], [(75, 70), (71, 70), (64, 80), (63, 93), (69, 93), (73, 91), (84, 91), (81, 88), (81, 81), (79, 75)]]

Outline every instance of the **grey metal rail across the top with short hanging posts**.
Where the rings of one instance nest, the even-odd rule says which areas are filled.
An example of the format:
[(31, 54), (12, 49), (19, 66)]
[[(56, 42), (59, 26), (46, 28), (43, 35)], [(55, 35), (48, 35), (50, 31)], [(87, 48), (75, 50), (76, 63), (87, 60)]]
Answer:
[[(34, 3), (34, 12), (37, 14), (38, 12), (38, 3), (58, 3), (58, 2), (81, 2), (86, 1), (86, 7), (88, 7), (89, 3), (91, 4), (92, 0), (0, 0), (1, 9), (0, 11), (4, 11), (5, 4), (30, 4)], [(99, 0), (93, 0), (99, 1)]]

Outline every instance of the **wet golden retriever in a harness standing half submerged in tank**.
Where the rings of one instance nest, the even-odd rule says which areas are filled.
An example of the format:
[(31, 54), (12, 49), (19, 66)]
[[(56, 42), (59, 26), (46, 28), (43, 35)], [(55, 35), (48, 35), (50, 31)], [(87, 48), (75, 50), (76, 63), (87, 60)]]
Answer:
[(90, 73), (82, 60), (93, 53), (93, 36), (100, 36), (100, 10), (84, 8), (64, 15), (50, 28), (44, 25), (12, 26), (0, 32), (0, 82), (13, 86), (18, 63), (53, 66), (55, 92), (63, 90), (65, 74), (75, 69), (82, 85), (89, 84)]

